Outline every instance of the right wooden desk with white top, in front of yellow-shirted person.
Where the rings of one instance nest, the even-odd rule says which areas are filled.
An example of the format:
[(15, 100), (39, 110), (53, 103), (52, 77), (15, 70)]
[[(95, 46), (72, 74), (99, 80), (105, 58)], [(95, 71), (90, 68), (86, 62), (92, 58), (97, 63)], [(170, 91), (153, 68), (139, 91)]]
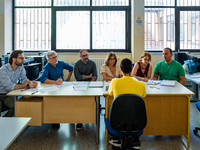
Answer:
[[(147, 111), (147, 125), (143, 135), (185, 135), (190, 142), (190, 96), (193, 92), (176, 82), (175, 87), (146, 85), (144, 98)], [(106, 96), (106, 118), (109, 116), (113, 97)], [(108, 132), (106, 130), (106, 144)]]

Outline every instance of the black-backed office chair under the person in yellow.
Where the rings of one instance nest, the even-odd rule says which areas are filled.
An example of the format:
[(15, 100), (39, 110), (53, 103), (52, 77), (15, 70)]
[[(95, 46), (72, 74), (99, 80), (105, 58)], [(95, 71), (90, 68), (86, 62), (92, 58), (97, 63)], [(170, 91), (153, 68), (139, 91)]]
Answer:
[(116, 96), (105, 122), (108, 133), (122, 138), (122, 149), (133, 149), (132, 139), (142, 135), (147, 123), (143, 98), (136, 94)]

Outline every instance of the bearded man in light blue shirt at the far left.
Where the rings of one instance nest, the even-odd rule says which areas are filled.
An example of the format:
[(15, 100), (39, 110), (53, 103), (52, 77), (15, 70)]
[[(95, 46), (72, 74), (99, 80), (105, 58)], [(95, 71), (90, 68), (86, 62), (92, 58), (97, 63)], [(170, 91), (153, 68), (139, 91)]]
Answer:
[[(24, 54), (21, 50), (14, 50), (8, 58), (9, 63), (0, 68), (0, 110), (2, 105), (9, 108), (4, 117), (14, 116), (14, 97), (6, 96), (12, 90), (36, 88), (37, 82), (30, 82), (24, 69)], [(18, 84), (21, 82), (21, 84)], [(1, 114), (0, 114), (1, 115)]]

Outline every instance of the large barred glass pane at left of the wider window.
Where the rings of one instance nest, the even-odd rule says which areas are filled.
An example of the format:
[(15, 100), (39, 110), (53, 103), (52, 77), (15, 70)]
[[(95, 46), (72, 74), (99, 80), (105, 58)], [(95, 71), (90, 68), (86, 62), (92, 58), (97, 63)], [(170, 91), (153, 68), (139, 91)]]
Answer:
[(15, 49), (51, 49), (51, 9), (15, 9)]

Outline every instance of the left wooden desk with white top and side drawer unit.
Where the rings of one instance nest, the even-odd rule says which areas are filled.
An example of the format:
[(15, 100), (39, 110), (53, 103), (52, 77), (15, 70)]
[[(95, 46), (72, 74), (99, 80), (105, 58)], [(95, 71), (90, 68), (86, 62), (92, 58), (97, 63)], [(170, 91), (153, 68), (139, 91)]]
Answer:
[[(38, 83), (39, 88), (52, 85)], [(88, 88), (74, 91), (73, 85), (59, 87), (59, 90), (31, 95), (30, 91), (14, 90), (8, 96), (24, 96), (16, 101), (17, 117), (32, 117), (29, 125), (43, 123), (93, 123), (96, 125), (96, 143), (99, 143), (100, 96), (103, 88)], [(25, 98), (28, 96), (28, 98)]]

